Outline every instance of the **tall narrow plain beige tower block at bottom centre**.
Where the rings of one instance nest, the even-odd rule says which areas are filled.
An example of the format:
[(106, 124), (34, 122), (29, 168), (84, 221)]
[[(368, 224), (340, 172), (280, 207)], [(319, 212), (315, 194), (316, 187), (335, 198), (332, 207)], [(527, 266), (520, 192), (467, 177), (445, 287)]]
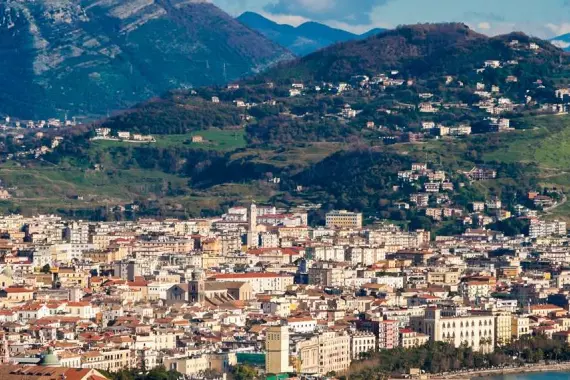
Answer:
[(265, 335), (265, 371), (280, 374), (289, 372), (289, 328), (286, 325), (271, 326)]

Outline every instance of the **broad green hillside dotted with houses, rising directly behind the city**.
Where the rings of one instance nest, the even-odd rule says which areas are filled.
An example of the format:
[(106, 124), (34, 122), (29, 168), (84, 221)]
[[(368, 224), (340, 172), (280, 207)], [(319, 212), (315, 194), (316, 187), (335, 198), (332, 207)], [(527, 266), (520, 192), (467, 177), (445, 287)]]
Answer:
[[(0, 211), (100, 218), (110, 205), (137, 202), (138, 216), (198, 216), (255, 199), (405, 221), (424, 218), (395, 206), (419, 191), (398, 180), (411, 162), (448, 173), (450, 199), (462, 208), (490, 196), (525, 204), (529, 191), (570, 189), (570, 117), (557, 114), (564, 99), (555, 95), (569, 77), (569, 54), (522, 33), (400, 27), (281, 63), (239, 87), (170, 91), (95, 125), (0, 135), (0, 180), (12, 194)], [(292, 92), (298, 80), (303, 89)], [(491, 115), (514, 130), (497, 132)], [(427, 131), (427, 122), (443, 127)], [(467, 126), (472, 136), (450, 136)], [(433, 136), (444, 127), (450, 135)], [(119, 131), (152, 139), (122, 141)], [(475, 166), (498, 178), (470, 184), (461, 173)]]

